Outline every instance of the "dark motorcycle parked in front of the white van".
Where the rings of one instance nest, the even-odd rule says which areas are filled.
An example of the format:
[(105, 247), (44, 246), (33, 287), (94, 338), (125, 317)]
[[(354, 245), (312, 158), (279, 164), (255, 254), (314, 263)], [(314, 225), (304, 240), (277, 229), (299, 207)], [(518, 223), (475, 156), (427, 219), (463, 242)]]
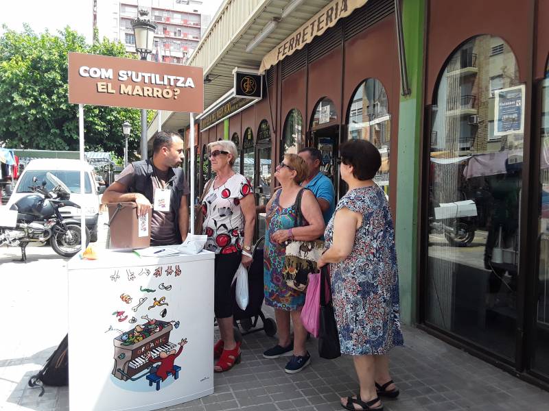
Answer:
[[(25, 248), (29, 242), (47, 242), (62, 257), (72, 257), (81, 248), (82, 236), (80, 221), (64, 219), (59, 209), (65, 206), (80, 208), (78, 204), (70, 201), (71, 190), (55, 175), (46, 173), (46, 178), (54, 184), (54, 189), (49, 192), (45, 186), (37, 184), (37, 179), (32, 180), (34, 186), (30, 186), (32, 194), (16, 201), (8, 213), (15, 216), (13, 223), (0, 226), (0, 246), (8, 245), (21, 247), (21, 262), (27, 261)], [(89, 241), (89, 232), (86, 228), (86, 239)]]

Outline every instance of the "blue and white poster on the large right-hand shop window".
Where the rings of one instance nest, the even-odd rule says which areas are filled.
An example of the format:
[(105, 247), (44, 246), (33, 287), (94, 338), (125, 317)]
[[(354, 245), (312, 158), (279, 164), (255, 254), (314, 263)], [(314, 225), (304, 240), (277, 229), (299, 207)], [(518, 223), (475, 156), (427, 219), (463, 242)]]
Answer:
[(524, 132), (524, 84), (495, 91), (494, 136)]

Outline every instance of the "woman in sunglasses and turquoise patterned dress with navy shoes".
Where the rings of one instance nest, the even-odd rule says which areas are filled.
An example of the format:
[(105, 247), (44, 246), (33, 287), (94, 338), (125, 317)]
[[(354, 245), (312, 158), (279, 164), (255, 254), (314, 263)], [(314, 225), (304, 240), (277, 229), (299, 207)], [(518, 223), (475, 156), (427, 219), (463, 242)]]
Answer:
[[(288, 240), (315, 240), (324, 232), (324, 219), (318, 201), (310, 190), (303, 192), (301, 213), (308, 225), (294, 227), (296, 222), (295, 201), (304, 188), (299, 186), (307, 177), (307, 163), (296, 154), (286, 154), (277, 166), (277, 177), (281, 188), (267, 203), (267, 232), (264, 249), (265, 303), (274, 307), (279, 341), (263, 353), (264, 358), (292, 356), (284, 371), (297, 373), (311, 362), (305, 349), (307, 331), (301, 323), (301, 308), (305, 293), (288, 287), (282, 278), (286, 242)], [(294, 324), (294, 341), (290, 340), (290, 317)], [(293, 355), (292, 355), (293, 354)]]

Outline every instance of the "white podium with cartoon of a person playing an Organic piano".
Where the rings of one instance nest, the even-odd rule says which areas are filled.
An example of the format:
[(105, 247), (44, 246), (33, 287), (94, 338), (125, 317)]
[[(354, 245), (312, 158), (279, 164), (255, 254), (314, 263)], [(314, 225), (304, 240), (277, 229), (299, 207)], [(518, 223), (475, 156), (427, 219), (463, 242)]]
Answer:
[(156, 410), (213, 393), (214, 258), (106, 250), (69, 261), (71, 410)]

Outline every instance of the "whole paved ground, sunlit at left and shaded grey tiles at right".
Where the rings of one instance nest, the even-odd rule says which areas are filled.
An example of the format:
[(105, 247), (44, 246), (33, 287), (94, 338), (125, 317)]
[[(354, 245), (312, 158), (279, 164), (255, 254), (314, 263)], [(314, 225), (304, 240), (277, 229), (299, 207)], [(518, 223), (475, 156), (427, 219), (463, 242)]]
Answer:
[[(106, 232), (102, 214), (100, 243)], [(104, 247), (104, 245), (103, 245)], [(66, 260), (51, 247), (29, 247), (29, 262), (19, 264), (19, 248), (0, 248), (3, 287), (0, 301), (9, 313), (0, 349), (0, 410), (66, 411), (68, 388), (27, 386), (67, 332)], [(267, 316), (274, 318), (270, 308)], [(261, 321), (259, 321), (261, 323)], [(388, 411), (549, 410), (549, 393), (469, 356), (414, 327), (404, 327), (405, 347), (390, 353), (393, 379), (401, 390), (396, 400), (384, 401)], [(215, 393), (165, 408), (185, 411), (330, 411), (342, 410), (339, 397), (358, 390), (352, 359), (318, 358), (316, 340), (307, 343), (312, 365), (288, 375), (288, 358), (261, 356), (276, 339), (257, 332), (244, 336), (242, 363), (215, 374)], [(70, 353), (70, 349), (69, 349)], [(213, 363), (212, 363), (213, 365)], [(78, 410), (73, 410), (78, 411)]]

